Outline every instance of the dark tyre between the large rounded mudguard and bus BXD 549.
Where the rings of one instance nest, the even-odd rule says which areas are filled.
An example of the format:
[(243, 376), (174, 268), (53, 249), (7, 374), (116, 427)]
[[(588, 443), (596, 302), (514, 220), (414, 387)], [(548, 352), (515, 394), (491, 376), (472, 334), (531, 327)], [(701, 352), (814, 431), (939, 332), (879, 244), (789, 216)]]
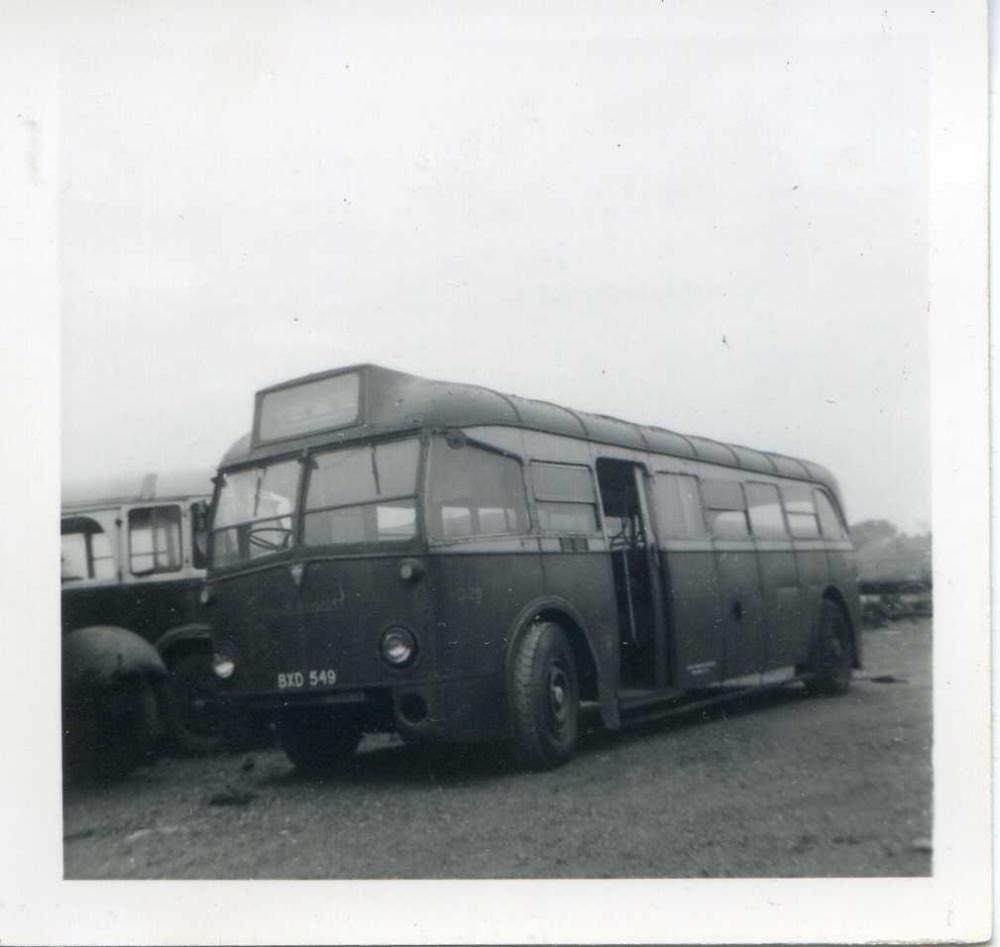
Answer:
[(228, 713), (208, 652), (189, 651), (170, 663), (166, 723), (170, 743), (184, 756), (205, 756), (226, 742)]

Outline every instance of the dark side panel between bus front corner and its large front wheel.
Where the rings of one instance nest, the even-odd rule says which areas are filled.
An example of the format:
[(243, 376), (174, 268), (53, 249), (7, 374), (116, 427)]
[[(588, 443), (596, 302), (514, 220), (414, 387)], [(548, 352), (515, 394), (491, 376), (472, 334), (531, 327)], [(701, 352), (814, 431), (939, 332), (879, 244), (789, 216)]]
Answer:
[(457, 547), (433, 556), (423, 581), (431, 587), (437, 616), (439, 675), (500, 674), (511, 626), (525, 604), (542, 594), (539, 554)]

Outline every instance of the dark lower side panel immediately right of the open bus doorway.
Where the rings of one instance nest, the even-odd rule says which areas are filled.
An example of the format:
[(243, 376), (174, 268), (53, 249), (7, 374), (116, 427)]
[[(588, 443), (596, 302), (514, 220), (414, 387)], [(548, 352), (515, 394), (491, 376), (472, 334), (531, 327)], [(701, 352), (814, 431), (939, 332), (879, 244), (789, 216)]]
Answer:
[(678, 687), (704, 687), (722, 677), (723, 621), (715, 552), (660, 551), (669, 589), (668, 626), (674, 642)]

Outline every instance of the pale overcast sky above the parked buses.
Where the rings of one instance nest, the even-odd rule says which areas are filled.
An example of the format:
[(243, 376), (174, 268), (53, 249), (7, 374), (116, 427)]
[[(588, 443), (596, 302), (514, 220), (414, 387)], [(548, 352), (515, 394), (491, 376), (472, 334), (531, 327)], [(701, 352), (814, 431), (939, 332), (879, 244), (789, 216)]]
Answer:
[(64, 480), (207, 473), (255, 389), (374, 361), (807, 457), (926, 528), (924, 43), (612, 6), (81, 29)]

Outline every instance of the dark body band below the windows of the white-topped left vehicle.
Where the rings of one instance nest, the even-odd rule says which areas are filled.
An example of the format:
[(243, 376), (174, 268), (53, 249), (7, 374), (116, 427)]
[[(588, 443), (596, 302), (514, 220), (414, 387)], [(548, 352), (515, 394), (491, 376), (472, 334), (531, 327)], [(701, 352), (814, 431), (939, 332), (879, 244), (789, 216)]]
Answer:
[(197, 621), (199, 579), (103, 585), (63, 589), (63, 632), (86, 625), (128, 628), (146, 641), (163, 632)]

